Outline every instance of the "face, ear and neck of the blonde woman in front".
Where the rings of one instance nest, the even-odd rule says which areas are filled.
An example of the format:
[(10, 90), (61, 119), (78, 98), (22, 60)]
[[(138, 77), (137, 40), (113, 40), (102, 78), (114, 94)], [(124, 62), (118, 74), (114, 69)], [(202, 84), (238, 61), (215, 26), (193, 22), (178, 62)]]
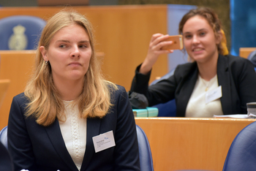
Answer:
[(53, 83), (61, 99), (77, 99), (83, 91), (84, 75), (91, 59), (90, 39), (76, 24), (61, 28), (50, 40), (48, 50), (39, 47), (44, 61), (49, 61)]

